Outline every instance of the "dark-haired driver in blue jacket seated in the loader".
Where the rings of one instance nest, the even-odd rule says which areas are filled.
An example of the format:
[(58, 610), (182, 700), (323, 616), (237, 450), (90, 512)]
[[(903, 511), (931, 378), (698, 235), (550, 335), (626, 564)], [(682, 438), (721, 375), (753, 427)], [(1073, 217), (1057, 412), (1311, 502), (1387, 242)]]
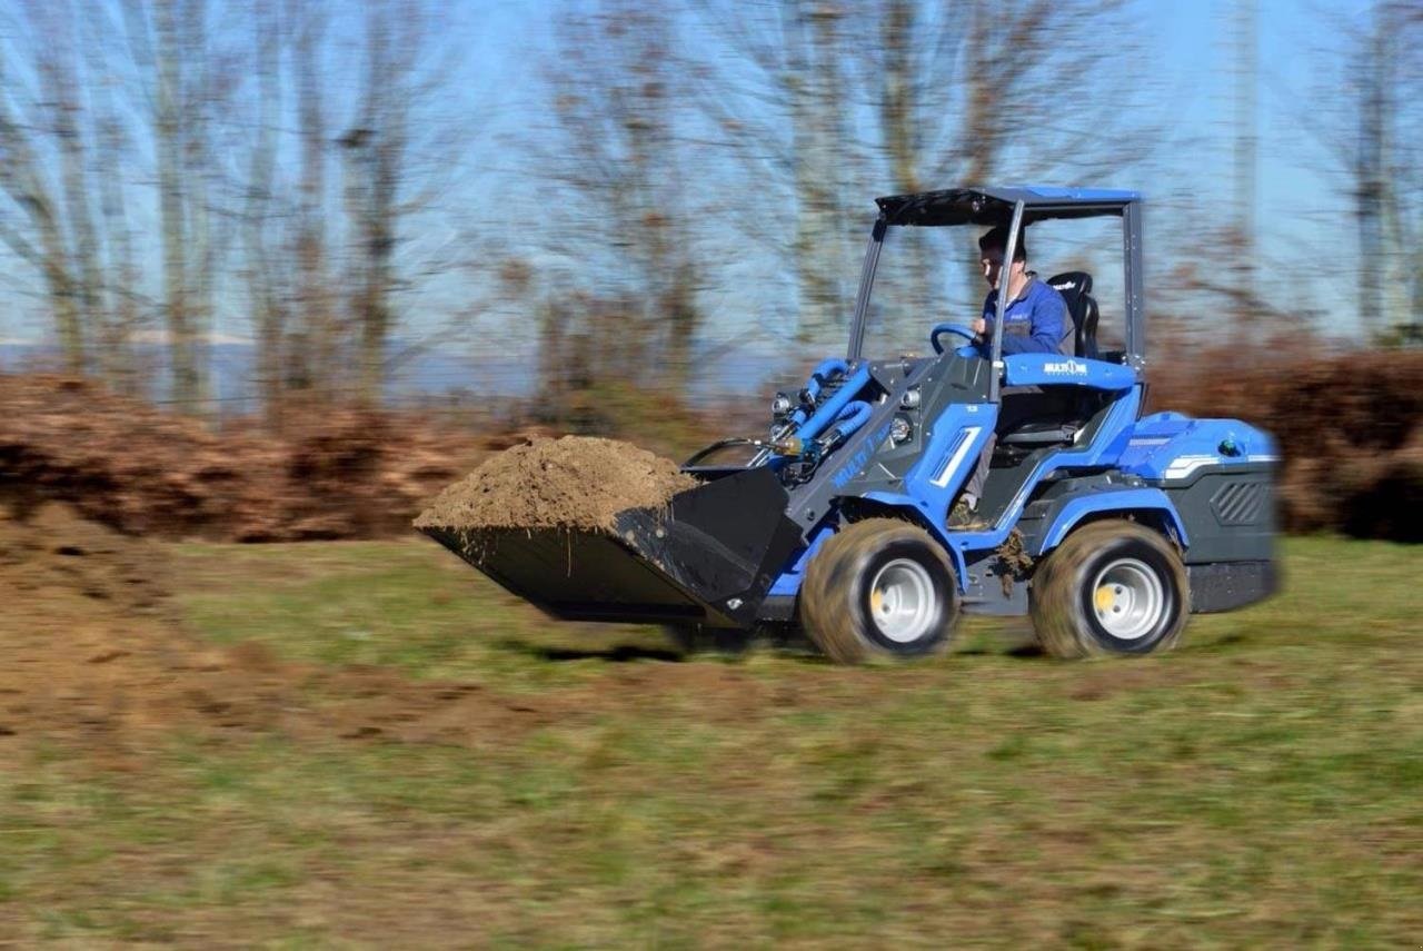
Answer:
[[(970, 325), (978, 336), (973, 347), (988, 359), (993, 349), (993, 320), (998, 313), (998, 288), (1003, 275), (1003, 249), (1007, 246), (1007, 228), (993, 228), (979, 238), (979, 263), (983, 279), (989, 283), (983, 298), (983, 316)], [(1017, 235), (1013, 262), (1007, 268), (1007, 308), (1003, 315), (1003, 356), (1010, 353), (1062, 353), (1073, 354), (1073, 323), (1067, 316), (1067, 302), (1052, 286), (1027, 270), (1027, 242)], [(1026, 387), (1036, 389), (1036, 387)], [(1013, 390), (1005, 390), (1005, 394)], [(1019, 390), (1023, 392), (1023, 390)], [(979, 457), (978, 468), (969, 477), (963, 494), (949, 513), (951, 528), (969, 528), (978, 522), (978, 503), (983, 495), (983, 480), (988, 478), (989, 463), (993, 461), (993, 446), (998, 434), (990, 433), (988, 446)]]

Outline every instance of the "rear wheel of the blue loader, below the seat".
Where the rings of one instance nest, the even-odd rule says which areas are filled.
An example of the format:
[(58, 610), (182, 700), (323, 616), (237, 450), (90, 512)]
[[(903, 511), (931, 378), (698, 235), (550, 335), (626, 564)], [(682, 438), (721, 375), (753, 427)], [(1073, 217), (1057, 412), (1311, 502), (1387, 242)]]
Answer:
[(1185, 565), (1160, 532), (1111, 518), (1073, 531), (1033, 574), (1043, 651), (1066, 659), (1170, 651), (1191, 614)]

